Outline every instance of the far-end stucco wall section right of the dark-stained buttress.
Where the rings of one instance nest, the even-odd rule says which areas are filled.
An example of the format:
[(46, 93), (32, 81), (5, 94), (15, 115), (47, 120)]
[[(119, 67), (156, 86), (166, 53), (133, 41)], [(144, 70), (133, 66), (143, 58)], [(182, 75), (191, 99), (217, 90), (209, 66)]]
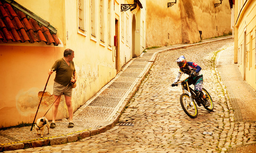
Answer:
[(202, 31), (202, 39), (222, 36), (231, 32), (231, 9), (228, 1), (222, 1), (218, 7), (215, 3), (220, 1), (195, 1), (193, 6), (198, 30)]

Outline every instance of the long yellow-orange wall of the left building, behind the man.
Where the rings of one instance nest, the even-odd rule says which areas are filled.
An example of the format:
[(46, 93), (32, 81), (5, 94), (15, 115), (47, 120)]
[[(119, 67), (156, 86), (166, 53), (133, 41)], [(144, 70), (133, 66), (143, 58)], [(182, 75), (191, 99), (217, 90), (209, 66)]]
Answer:
[[(49, 22), (57, 29), (57, 36), (62, 42), (61, 45), (53, 46), (40, 43), (19, 43), (19, 42), (0, 42), (0, 64), (5, 65), (0, 68), (7, 72), (1, 76), (0, 83), (3, 88), (0, 92), (4, 95), (0, 99), (0, 128), (14, 126), (19, 123), (32, 123), (37, 110), (41, 94), (46, 85), (49, 68), (54, 62), (63, 57), (63, 51), (71, 48), (75, 52), (73, 59), (76, 72), (78, 74), (77, 87), (72, 91), (72, 105), (76, 111), (81, 105), (86, 103), (104, 85), (109, 83), (117, 74), (116, 65), (121, 69), (126, 62), (132, 59), (132, 16), (140, 13), (140, 23), (138, 26), (138, 42), (145, 40), (142, 36), (142, 20), (145, 22), (145, 1), (143, 11), (137, 8), (133, 11), (123, 12), (129, 17), (129, 29), (125, 39), (119, 38), (119, 55), (115, 53), (114, 35), (115, 18), (119, 17), (119, 36), (121, 36), (121, 4), (132, 4), (132, 1), (109, 0), (104, 1), (104, 13), (108, 14), (108, 2), (111, 4), (111, 43), (109, 45), (109, 25), (108, 15), (104, 15), (104, 42), (100, 41), (100, 17), (99, 2), (96, 4), (96, 37), (91, 35), (91, 1), (84, 1), (86, 4), (85, 13), (85, 33), (81, 34), (78, 29), (78, 4), (77, 1), (51, 1), (51, 0), (16, 0), (19, 5), (33, 12), (35, 15)], [(141, 15), (142, 14), (142, 15)], [(126, 24), (123, 25), (125, 27)], [(144, 25), (145, 26), (145, 25)], [(124, 29), (126, 32), (126, 27)], [(143, 37), (143, 38), (142, 38)], [(143, 44), (138, 44), (138, 54), (143, 52)], [(119, 63), (116, 63), (116, 57)], [(53, 103), (53, 80), (55, 72), (51, 75), (48, 82), (46, 93), (42, 99), (37, 118), (43, 116)], [(52, 119), (52, 110), (46, 117)], [(62, 96), (56, 119), (68, 118), (67, 106)]]

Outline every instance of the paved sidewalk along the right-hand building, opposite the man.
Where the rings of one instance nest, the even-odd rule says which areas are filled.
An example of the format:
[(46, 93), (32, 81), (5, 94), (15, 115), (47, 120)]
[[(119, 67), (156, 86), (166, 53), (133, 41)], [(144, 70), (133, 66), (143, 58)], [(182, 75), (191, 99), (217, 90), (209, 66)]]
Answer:
[[(234, 46), (222, 50), (217, 56), (215, 66), (223, 84), (222, 88), (228, 94), (231, 104), (229, 109), (234, 110), (234, 121), (241, 124), (255, 123), (256, 91), (243, 80), (239, 65), (234, 64), (233, 50)], [(229, 152), (256, 152), (256, 142), (238, 145), (230, 148)]]

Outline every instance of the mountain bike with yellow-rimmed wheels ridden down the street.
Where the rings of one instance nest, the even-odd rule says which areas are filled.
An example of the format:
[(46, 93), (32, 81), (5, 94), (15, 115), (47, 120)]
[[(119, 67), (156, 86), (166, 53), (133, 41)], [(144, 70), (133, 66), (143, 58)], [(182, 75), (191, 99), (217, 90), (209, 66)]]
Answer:
[[(188, 78), (180, 81), (176, 84), (176, 86), (181, 85), (183, 93), (180, 95), (180, 104), (183, 111), (187, 114), (187, 116), (191, 118), (196, 118), (198, 116), (198, 107), (205, 104), (202, 97), (198, 96), (194, 89), (188, 86)], [(208, 111), (214, 110), (214, 102), (212, 101), (210, 94), (206, 89), (202, 89), (203, 94), (207, 98), (210, 103), (210, 106), (204, 108)]]

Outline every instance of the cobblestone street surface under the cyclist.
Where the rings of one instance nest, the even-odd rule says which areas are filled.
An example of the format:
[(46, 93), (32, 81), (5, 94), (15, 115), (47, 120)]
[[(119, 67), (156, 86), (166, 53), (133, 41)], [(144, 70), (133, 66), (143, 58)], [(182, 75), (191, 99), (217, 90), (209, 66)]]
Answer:
[[(217, 53), (232, 46), (233, 39), (227, 39), (158, 54), (119, 119), (134, 126), (117, 125), (77, 142), (5, 152), (232, 152), (234, 147), (254, 143), (256, 123), (235, 121), (214, 64)], [(175, 60), (181, 55), (202, 67), (214, 112), (201, 106), (198, 117), (192, 119), (182, 110), (181, 86), (171, 86), (179, 70)], [(186, 77), (183, 74), (181, 80)]]

